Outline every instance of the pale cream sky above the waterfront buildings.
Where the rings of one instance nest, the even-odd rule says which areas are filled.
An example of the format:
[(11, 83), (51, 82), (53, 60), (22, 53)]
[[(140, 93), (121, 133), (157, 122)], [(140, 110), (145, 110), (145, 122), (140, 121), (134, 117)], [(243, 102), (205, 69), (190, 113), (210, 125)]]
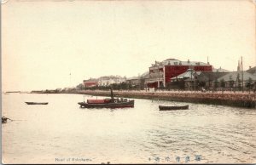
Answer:
[(2, 90), (133, 77), (155, 60), (256, 65), (253, 1), (18, 1), (2, 8)]

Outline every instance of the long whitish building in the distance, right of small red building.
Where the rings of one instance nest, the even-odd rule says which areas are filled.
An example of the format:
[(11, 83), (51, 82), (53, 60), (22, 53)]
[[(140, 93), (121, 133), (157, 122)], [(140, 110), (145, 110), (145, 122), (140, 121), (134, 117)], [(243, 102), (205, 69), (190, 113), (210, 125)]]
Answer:
[(126, 81), (125, 77), (120, 76), (106, 76), (106, 77), (99, 77), (98, 78), (98, 85), (107, 87), (113, 83), (124, 83)]

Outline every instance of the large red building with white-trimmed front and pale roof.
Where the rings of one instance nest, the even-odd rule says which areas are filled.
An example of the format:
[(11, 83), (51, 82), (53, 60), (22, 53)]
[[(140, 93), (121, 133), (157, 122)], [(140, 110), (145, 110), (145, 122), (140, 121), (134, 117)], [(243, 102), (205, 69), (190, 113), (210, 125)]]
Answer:
[(181, 61), (167, 59), (162, 62), (155, 61), (149, 67), (149, 78), (146, 81), (149, 88), (166, 87), (171, 82), (172, 77), (177, 77), (188, 69), (194, 71), (212, 71), (212, 65), (208, 62)]

